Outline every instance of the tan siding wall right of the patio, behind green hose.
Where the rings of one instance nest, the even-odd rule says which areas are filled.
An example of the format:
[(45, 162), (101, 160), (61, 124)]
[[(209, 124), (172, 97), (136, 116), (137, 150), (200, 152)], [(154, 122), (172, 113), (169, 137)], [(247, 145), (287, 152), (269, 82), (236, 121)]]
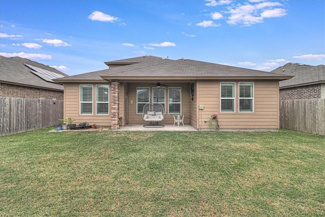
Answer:
[[(279, 129), (278, 81), (247, 80), (247, 82), (254, 82), (253, 112), (239, 112), (238, 85), (243, 80), (222, 82), (235, 82), (236, 112), (220, 112), (220, 81), (198, 81), (200, 93), (197, 128), (209, 129), (211, 115), (216, 113), (219, 116), (220, 129)], [(215, 94), (211, 95), (213, 92)], [(199, 110), (200, 104), (204, 105), (202, 112)]]

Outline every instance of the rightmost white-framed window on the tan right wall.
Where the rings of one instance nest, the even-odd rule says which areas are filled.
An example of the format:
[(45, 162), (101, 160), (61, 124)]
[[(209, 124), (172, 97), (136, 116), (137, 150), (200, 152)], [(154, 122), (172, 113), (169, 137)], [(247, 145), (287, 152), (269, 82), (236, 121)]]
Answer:
[(253, 83), (239, 82), (239, 112), (253, 112)]

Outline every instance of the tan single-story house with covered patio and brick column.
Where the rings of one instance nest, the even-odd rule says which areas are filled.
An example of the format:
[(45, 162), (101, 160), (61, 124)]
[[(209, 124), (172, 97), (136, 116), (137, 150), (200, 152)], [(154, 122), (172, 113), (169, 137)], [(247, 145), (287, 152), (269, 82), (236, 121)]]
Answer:
[[(145, 124), (146, 103), (165, 107), (163, 124), (175, 114), (184, 123), (209, 129), (279, 129), (279, 81), (293, 76), (190, 59), (140, 56), (107, 61), (109, 69), (55, 79), (64, 83), (64, 117), (99, 126)], [(205, 121), (207, 120), (207, 121)]]

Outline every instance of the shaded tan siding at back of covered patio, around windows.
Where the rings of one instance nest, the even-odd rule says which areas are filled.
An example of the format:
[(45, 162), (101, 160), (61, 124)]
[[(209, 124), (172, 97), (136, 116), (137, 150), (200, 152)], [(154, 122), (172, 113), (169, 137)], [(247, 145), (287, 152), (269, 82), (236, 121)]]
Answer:
[[(150, 87), (150, 98), (152, 102), (152, 87), (155, 87), (154, 83), (127, 83), (128, 88), (128, 123), (143, 123), (146, 122), (142, 119), (142, 114), (137, 114), (137, 87)], [(190, 116), (190, 84), (189, 83), (172, 83), (172, 82), (161, 82), (168, 86), (165, 87), (165, 100), (166, 100), (166, 114), (165, 119), (161, 121), (163, 124), (174, 123), (173, 115), (168, 114), (168, 87), (181, 87), (182, 90), (182, 114), (185, 114), (184, 123), (189, 123)], [(133, 102), (133, 103), (132, 103)]]

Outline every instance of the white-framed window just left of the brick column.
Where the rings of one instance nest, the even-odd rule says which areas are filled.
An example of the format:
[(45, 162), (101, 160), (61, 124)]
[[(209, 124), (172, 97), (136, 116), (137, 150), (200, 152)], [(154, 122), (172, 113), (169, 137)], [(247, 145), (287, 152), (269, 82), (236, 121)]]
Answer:
[(96, 114), (109, 114), (109, 85), (96, 85)]

